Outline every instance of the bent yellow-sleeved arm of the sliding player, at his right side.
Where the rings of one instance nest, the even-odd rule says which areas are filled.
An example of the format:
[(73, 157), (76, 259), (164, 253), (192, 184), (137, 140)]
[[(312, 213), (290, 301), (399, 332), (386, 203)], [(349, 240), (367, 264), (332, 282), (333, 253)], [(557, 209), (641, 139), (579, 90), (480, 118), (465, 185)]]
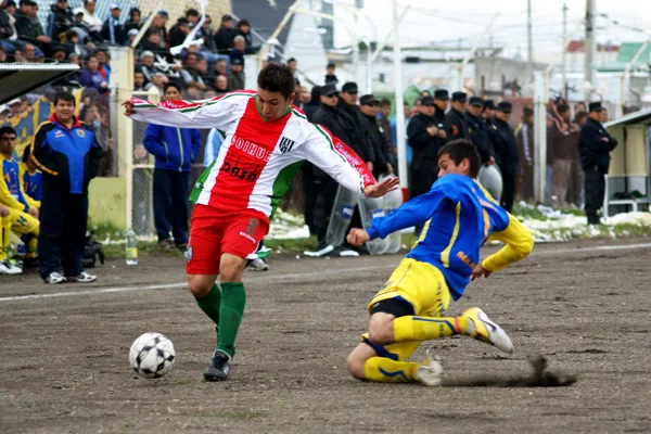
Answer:
[(472, 280), (481, 276), (488, 277), (494, 271), (499, 271), (510, 264), (524, 259), (534, 248), (532, 232), (510, 214), (509, 226), (502, 231), (493, 232), (488, 240), (501, 241), (505, 246), (482, 261), (473, 271)]

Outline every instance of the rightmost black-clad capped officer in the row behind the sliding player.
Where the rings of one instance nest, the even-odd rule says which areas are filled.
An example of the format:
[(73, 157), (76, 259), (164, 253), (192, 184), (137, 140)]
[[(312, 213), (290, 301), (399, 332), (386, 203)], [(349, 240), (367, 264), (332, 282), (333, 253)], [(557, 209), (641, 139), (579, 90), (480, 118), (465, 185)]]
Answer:
[(500, 205), (507, 212), (513, 208), (515, 199), (515, 180), (518, 178), (518, 142), (513, 129), (509, 125), (512, 105), (508, 101), (497, 104), (497, 114), (493, 125), (497, 130), (495, 152), (499, 155), (500, 170), (502, 176), (502, 194)]

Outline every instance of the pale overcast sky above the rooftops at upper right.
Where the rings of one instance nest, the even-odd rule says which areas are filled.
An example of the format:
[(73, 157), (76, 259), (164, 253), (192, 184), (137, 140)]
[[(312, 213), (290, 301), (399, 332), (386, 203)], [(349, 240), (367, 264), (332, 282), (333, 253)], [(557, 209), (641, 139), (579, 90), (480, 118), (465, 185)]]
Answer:
[[(354, 4), (354, 0), (335, 0)], [(501, 46), (507, 54), (519, 50), (526, 56), (526, 0), (399, 0), (400, 8), (411, 9), (401, 22), (400, 40), (403, 47), (435, 43), (472, 44), (476, 35), (499, 13), (481, 44)], [(390, 0), (366, 0), (365, 12), (378, 27), (378, 39), (383, 40), (392, 27), (392, 2)], [(583, 38), (585, 27), (585, 0), (566, 0), (567, 31), (575, 38)], [(533, 44), (537, 51), (558, 51), (562, 47), (563, 0), (532, 0)], [(400, 10), (401, 12), (401, 10)], [(651, 36), (651, 5), (649, 0), (597, 0), (597, 13), (607, 17), (597, 18), (597, 40), (607, 43), (643, 41)], [(335, 15), (353, 24), (352, 14), (344, 7), (335, 7)], [(614, 22), (618, 22), (615, 24)], [(337, 25), (335, 44), (348, 44), (344, 26)], [(647, 34), (630, 28), (643, 29)], [(372, 29), (366, 18), (359, 21), (359, 34), (372, 38)]]

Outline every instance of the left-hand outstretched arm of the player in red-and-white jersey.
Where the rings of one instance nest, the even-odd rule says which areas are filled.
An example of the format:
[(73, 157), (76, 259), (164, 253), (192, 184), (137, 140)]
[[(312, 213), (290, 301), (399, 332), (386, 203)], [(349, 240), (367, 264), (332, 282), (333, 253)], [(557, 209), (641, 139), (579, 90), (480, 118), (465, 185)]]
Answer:
[(133, 120), (179, 128), (220, 128), (234, 122), (240, 111), (255, 93), (227, 93), (202, 101), (163, 101), (158, 104), (131, 98), (123, 102), (125, 115)]

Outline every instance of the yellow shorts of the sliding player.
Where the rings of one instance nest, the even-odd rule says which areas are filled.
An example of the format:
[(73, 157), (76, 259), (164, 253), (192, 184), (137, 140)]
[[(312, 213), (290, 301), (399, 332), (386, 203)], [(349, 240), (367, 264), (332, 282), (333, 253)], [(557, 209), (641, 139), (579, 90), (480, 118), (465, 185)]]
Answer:
[[(382, 291), (375, 294), (369, 303), (369, 314), (375, 303), (392, 298), (411, 305), (414, 316), (438, 318), (444, 316), (451, 296), (438, 268), (416, 259), (405, 258), (391, 275)], [(371, 344), (368, 337), (368, 333), (361, 336), (363, 342), (373, 347), (378, 356), (398, 361), (409, 358), (420, 345), (420, 342), (405, 342), (382, 346)]]

